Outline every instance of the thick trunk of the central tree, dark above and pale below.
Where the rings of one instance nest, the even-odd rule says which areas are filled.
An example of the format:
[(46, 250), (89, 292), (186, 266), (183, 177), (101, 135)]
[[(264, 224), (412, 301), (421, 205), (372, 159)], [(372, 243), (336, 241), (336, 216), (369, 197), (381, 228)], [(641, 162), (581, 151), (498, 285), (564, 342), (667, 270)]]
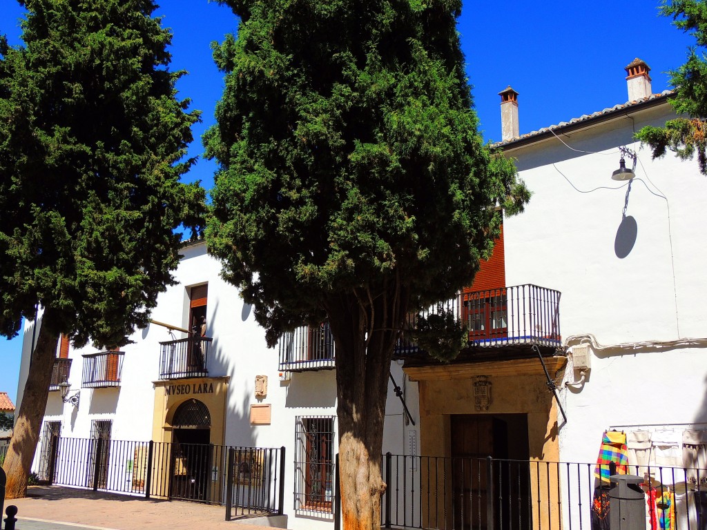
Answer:
[(378, 296), (327, 303), (336, 341), (339, 483), (344, 530), (380, 529), (385, 398), (407, 297), (396, 283)]

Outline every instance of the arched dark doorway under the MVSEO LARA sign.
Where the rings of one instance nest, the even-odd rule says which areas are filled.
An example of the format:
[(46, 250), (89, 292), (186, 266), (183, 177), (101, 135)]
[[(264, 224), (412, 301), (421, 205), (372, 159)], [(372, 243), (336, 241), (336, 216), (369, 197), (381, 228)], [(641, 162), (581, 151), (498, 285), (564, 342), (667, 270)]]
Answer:
[(177, 407), (172, 420), (172, 484), (170, 497), (209, 500), (211, 414), (198, 399)]

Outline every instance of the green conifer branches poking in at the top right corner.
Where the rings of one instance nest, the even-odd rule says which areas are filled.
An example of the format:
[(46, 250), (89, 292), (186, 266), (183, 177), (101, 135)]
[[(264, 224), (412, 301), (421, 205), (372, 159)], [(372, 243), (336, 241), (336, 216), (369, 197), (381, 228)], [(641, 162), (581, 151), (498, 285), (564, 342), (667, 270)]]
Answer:
[(700, 172), (707, 175), (707, 154), (704, 137), (707, 117), (707, 1), (664, 0), (660, 8), (664, 16), (673, 19), (673, 25), (695, 37), (697, 48), (689, 50), (685, 64), (671, 71), (670, 84), (676, 95), (670, 100), (678, 114), (688, 118), (672, 119), (665, 127), (644, 127), (636, 138), (648, 144), (653, 158), (660, 158), (672, 151), (682, 160), (696, 153)]

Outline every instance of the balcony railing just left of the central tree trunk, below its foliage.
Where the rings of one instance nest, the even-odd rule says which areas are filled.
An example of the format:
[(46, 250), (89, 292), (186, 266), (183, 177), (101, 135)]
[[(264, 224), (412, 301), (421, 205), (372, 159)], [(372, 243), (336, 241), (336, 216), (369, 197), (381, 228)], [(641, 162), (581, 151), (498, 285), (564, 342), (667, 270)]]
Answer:
[(280, 370), (331, 370), (334, 349), (334, 336), (328, 323), (298, 327), (280, 339)]

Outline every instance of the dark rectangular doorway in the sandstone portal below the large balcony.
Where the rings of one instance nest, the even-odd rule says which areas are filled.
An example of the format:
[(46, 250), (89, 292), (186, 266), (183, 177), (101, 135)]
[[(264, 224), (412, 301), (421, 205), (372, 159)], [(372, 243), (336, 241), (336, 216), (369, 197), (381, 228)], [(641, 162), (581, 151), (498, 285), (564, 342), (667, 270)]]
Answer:
[(530, 529), (527, 415), (454, 415), (451, 430), (454, 528), (490, 530), (493, 505), (493, 530)]

